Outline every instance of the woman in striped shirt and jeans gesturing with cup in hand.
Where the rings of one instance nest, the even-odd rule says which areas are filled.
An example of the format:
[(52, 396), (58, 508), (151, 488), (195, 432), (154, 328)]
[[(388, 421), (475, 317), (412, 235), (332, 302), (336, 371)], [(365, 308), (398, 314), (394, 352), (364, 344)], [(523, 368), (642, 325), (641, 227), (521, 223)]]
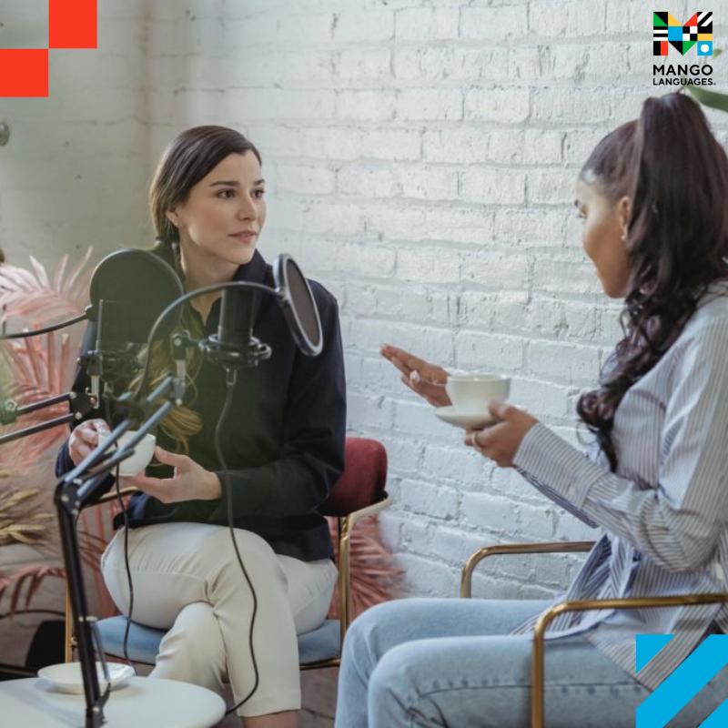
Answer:
[[(602, 288), (624, 298), (623, 339), (578, 405), (598, 447), (584, 458), (508, 403), (491, 403), (495, 424), (466, 434), (604, 531), (557, 602), (728, 588), (727, 201), (728, 159), (687, 96), (648, 99), (639, 120), (603, 138), (576, 200)], [(450, 404), (444, 369), (395, 347), (382, 353), (410, 389)], [(551, 603), (405, 600), (365, 612), (347, 634), (337, 726), (522, 728), (531, 631)], [(698, 642), (727, 630), (717, 603), (562, 614), (547, 632), (548, 724), (633, 725)], [(674, 635), (639, 672), (637, 633)], [(698, 725), (723, 703), (724, 672), (670, 725)]]

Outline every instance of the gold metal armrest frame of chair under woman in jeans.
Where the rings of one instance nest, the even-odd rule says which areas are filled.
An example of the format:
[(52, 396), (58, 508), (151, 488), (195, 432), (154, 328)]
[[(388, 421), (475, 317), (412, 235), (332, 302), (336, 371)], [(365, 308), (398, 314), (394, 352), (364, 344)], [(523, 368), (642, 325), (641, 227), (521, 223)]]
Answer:
[[(509, 543), (487, 546), (475, 551), (466, 561), (460, 576), (460, 597), (472, 595), (472, 572), (489, 556), (522, 553), (568, 553), (591, 551), (595, 541), (551, 541), (545, 543)], [(565, 612), (588, 612), (598, 609), (660, 609), (695, 604), (728, 602), (728, 593), (684, 594), (673, 597), (629, 597), (627, 599), (588, 599), (554, 604), (541, 612), (533, 629), (533, 658), (531, 661), (531, 728), (544, 728), (544, 635), (552, 620)]]

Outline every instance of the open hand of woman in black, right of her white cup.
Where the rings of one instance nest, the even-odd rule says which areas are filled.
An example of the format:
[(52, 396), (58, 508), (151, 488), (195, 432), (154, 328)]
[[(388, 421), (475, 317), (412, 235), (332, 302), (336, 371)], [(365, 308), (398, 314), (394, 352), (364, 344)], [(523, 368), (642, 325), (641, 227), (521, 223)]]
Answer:
[(155, 457), (165, 465), (175, 468), (172, 478), (148, 478), (146, 475), (122, 478), (125, 486), (132, 485), (144, 490), (157, 501), (176, 503), (177, 501), (214, 501), (222, 494), (220, 480), (210, 470), (197, 465), (187, 455), (178, 455), (158, 447)]

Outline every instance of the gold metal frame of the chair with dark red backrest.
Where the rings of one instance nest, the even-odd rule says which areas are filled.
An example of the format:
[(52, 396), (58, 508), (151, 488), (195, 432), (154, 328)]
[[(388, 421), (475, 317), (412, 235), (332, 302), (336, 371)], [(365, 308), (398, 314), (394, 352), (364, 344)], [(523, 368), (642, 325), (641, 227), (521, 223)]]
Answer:
[[(131, 495), (136, 492), (136, 488), (125, 488), (121, 490), (121, 496)], [(117, 498), (116, 492), (106, 493), (102, 496), (94, 505), (100, 505), (107, 501), (115, 501)], [(385, 494), (385, 497), (376, 503), (372, 503), (370, 506), (359, 509), (359, 511), (352, 511), (347, 516), (339, 516), (338, 521), (338, 532), (339, 532), (339, 627), (341, 631), (341, 644), (344, 644), (344, 636), (349, 629), (351, 623), (351, 579), (350, 579), (350, 539), (351, 531), (354, 530), (354, 526), (361, 519), (368, 518), (369, 516), (376, 516), (380, 511), (383, 511), (389, 506), (389, 496)], [(66, 629), (65, 629), (65, 645), (64, 645), (64, 656), (66, 662), (73, 660), (73, 651), (77, 646), (76, 636), (74, 635), (74, 621), (72, 619), (71, 612), (71, 597), (70, 591), (66, 585)], [(300, 665), (301, 670), (318, 670), (323, 667), (338, 667), (341, 662), (340, 657), (332, 657), (329, 660), (320, 660), (319, 662), (307, 662)]]

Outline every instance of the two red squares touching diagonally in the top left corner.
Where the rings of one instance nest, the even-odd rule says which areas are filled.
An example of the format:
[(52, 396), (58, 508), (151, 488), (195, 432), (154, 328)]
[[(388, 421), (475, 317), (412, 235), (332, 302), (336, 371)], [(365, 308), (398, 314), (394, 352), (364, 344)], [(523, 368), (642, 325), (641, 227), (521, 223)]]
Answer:
[(96, 0), (48, 0), (45, 48), (0, 47), (0, 96), (48, 96), (50, 48), (96, 48)]

